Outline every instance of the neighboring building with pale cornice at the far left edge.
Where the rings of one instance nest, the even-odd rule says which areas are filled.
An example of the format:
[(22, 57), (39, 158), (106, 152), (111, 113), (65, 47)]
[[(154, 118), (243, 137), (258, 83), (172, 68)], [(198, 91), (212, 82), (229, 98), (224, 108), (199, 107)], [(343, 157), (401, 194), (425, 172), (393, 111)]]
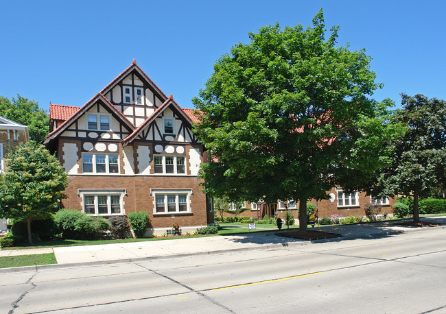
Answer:
[[(0, 173), (5, 171), (5, 156), (20, 143), (29, 141), (28, 127), (0, 116)], [(0, 231), (5, 231), (5, 219), (0, 219)]]

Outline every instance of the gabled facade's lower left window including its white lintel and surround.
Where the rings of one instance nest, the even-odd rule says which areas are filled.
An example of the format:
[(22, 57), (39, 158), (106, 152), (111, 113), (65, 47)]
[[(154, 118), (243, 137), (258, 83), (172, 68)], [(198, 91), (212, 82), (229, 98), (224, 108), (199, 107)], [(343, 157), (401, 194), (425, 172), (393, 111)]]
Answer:
[(84, 213), (88, 215), (123, 215), (122, 199), (126, 195), (124, 189), (111, 190), (79, 190), (83, 200)]

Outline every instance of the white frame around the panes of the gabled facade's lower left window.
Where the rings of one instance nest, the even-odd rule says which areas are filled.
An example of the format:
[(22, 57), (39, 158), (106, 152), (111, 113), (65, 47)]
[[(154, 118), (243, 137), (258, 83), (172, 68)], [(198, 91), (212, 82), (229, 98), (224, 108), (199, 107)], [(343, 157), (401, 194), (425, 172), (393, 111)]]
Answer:
[[(119, 216), (119, 215), (125, 215), (124, 210), (124, 196), (127, 194), (126, 189), (105, 189), (105, 190), (93, 190), (93, 189), (80, 189), (78, 190), (78, 196), (81, 198), (81, 206), (82, 206), (82, 212), (86, 213), (86, 202), (85, 197), (86, 196), (93, 196), (94, 197), (94, 208), (95, 213), (86, 213), (86, 215), (90, 216)], [(99, 196), (106, 196), (107, 197), (107, 213), (101, 213), (99, 214)], [(111, 212), (111, 198), (112, 196), (119, 197), (119, 213), (112, 213)]]

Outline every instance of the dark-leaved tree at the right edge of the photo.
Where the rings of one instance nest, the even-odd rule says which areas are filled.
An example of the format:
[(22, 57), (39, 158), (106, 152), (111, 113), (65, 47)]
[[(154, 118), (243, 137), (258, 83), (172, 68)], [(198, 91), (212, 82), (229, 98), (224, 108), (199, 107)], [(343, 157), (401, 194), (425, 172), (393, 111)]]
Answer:
[(379, 186), (390, 195), (414, 197), (413, 217), (419, 221), (419, 198), (446, 186), (446, 101), (401, 94), (394, 120), (406, 132), (392, 145), (391, 165)]

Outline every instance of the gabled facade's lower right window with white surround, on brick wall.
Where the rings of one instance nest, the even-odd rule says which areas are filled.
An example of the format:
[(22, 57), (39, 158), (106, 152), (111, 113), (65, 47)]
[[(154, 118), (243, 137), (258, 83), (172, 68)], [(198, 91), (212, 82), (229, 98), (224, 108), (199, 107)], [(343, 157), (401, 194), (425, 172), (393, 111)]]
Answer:
[(155, 213), (190, 213), (191, 190), (151, 190), (155, 198)]

